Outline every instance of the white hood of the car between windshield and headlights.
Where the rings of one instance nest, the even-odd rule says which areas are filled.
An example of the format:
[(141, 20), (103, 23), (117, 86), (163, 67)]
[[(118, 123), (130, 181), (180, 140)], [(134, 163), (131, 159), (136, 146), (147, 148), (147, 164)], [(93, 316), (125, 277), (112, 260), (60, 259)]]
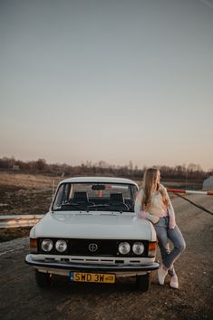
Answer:
[(30, 238), (147, 239), (156, 241), (148, 220), (109, 212), (48, 212), (32, 228)]

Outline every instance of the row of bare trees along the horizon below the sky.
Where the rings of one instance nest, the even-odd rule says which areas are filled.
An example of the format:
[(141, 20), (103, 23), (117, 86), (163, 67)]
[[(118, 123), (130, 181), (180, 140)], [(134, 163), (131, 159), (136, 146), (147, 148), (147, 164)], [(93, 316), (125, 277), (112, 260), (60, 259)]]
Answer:
[[(203, 179), (207, 179), (213, 175), (213, 168), (208, 171), (202, 170), (200, 165), (190, 163), (188, 166), (176, 165), (169, 167), (166, 165), (156, 165), (155, 167), (160, 169), (160, 173), (165, 180), (176, 180), (176, 181), (194, 181), (201, 183)], [(97, 163), (91, 161), (82, 162), (81, 165), (72, 166), (66, 163), (47, 163), (44, 159), (23, 161), (15, 160), (15, 157), (1, 158), (0, 159), (0, 170), (18, 170), (27, 173), (43, 173), (57, 176), (117, 176), (131, 179), (141, 179), (147, 167), (139, 169), (138, 166), (133, 165), (130, 161), (127, 165), (111, 165), (101, 160)]]

